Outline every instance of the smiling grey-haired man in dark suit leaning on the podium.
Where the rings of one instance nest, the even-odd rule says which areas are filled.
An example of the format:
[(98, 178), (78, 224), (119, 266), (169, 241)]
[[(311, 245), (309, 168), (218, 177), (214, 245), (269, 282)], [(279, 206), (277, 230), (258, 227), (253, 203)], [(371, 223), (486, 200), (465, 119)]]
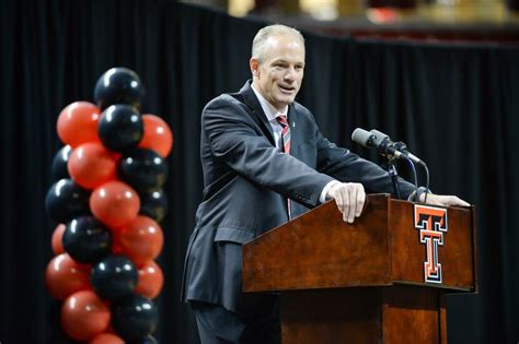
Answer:
[[(295, 102), (304, 71), (304, 40), (284, 25), (253, 41), (252, 81), (212, 99), (201, 115), (204, 200), (184, 271), (183, 299), (203, 343), (279, 343), (278, 296), (242, 293), (241, 246), (325, 200), (345, 222), (362, 211), (366, 190), (392, 192), (378, 165), (326, 140)], [(414, 186), (400, 179), (403, 198)], [(455, 197), (429, 203), (469, 205)]]

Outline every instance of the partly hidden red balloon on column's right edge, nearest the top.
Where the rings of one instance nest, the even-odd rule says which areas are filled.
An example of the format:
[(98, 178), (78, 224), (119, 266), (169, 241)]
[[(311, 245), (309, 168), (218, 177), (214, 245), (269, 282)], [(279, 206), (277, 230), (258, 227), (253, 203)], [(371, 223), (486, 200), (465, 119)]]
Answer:
[(173, 147), (173, 133), (168, 123), (154, 115), (142, 115), (145, 134), (139, 143), (139, 147), (150, 149), (166, 157)]

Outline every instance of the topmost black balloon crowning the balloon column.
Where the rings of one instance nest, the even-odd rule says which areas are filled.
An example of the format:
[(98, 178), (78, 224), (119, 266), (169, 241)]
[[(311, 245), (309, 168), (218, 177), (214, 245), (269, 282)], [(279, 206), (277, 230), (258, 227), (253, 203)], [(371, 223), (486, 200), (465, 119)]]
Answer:
[(114, 104), (128, 104), (137, 108), (145, 94), (139, 75), (127, 68), (112, 68), (97, 80), (94, 100), (104, 110)]

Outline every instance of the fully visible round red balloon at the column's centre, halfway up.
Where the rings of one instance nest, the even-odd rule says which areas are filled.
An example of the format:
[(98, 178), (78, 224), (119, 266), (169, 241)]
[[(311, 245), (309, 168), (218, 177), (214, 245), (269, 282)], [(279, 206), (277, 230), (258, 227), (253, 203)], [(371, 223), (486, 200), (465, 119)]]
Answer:
[(111, 228), (124, 226), (137, 217), (140, 200), (137, 192), (118, 180), (97, 187), (90, 195), (90, 210), (95, 218)]

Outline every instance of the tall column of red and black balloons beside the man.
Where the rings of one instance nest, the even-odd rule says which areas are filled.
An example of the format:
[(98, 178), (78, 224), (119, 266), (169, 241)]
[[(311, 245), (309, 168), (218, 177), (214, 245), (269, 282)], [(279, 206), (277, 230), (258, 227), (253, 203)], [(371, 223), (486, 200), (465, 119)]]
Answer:
[(143, 87), (126, 68), (106, 71), (96, 105), (76, 102), (59, 114), (55, 183), (45, 200), (58, 223), (46, 270), (50, 295), (64, 300), (61, 327), (89, 343), (155, 343), (154, 299), (163, 283), (154, 262), (163, 245), (162, 187), (173, 146), (168, 124), (141, 115)]

